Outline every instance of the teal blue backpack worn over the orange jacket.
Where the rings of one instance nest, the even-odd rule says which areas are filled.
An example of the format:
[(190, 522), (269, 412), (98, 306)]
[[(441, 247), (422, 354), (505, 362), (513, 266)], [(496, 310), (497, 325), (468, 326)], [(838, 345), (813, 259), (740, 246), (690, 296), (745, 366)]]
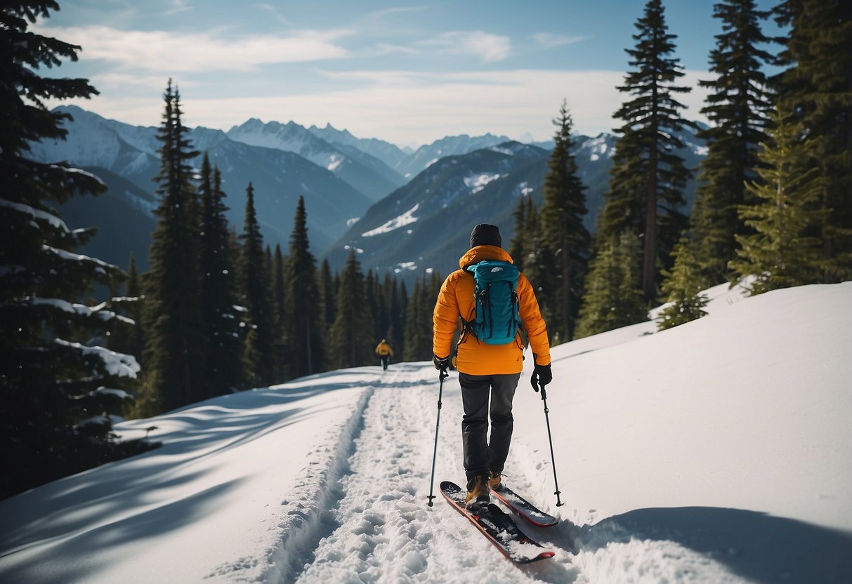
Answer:
[(475, 318), (464, 323), (477, 339), (489, 345), (515, 341), (518, 313), (518, 268), (508, 261), (484, 260), (468, 266), (475, 282)]

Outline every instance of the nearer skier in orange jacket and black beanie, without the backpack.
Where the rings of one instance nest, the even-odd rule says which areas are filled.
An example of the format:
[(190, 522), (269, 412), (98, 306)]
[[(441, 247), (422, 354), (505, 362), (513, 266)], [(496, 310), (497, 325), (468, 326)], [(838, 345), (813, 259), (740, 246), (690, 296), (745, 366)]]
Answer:
[[(488, 344), (469, 330), (475, 318), (475, 279), (466, 268), (481, 261), (498, 260), (512, 263), (501, 247), (497, 226), (480, 224), (470, 233), (470, 249), (458, 261), (461, 269), (452, 272), (441, 285), (433, 314), (433, 363), (446, 371), (450, 366), (452, 336), (458, 319), (463, 319), (462, 335), (456, 346), (455, 367), (462, 389), (464, 415), (462, 444), (464, 472), (467, 475), (465, 505), (491, 500), (489, 488), (498, 490), (512, 438), (512, 399), (523, 369), (523, 343), (520, 333), (509, 343)], [(550, 343), (547, 326), (538, 310), (533, 286), (519, 273), (517, 277), (517, 309), (521, 324), (533, 347), (533, 389), (552, 380)], [(491, 438), (488, 440), (488, 400), (491, 398)]]

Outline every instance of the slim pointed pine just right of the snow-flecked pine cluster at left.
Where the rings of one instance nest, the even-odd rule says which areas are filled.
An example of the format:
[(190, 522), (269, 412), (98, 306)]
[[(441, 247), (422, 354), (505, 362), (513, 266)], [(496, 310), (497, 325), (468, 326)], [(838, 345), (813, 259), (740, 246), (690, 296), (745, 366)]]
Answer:
[(243, 358), (248, 386), (266, 386), (275, 381), (273, 352), (272, 307), (269, 303), (269, 272), (263, 250), (263, 236), (257, 222), (255, 189), (249, 183), (245, 190), (245, 224), (239, 238), (242, 255), (239, 265), (239, 289), (248, 315), (249, 333), (246, 335)]

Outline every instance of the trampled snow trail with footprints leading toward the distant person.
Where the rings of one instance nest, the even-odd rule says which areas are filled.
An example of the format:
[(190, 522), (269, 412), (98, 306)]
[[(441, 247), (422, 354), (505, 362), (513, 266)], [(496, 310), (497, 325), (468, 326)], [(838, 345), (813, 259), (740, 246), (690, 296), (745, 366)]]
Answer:
[[(576, 581), (567, 551), (570, 524), (535, 528), (518, 519), (521, 530), (557, 553), (519, 567), (440, 494), (428, 507), (436, 376), (422, 364), (395, 365), (383, 376), (363, 410), (354, 451), (334, 489), (335, 506), (326, 513), (317, 541), (304, 541), (303, 566), (291, 563), (278, 581), (457, 581), (461, 573), (475, 574), (477, 581)], [(458, 381), (452, 377), (444, 385), (435, 493), (442, 478), (461, 480), (460, 419)], [(521, 467), (512, 458), (509, 465)], [(519, 490), (530, 484), (522, 476), (512, 482)]]

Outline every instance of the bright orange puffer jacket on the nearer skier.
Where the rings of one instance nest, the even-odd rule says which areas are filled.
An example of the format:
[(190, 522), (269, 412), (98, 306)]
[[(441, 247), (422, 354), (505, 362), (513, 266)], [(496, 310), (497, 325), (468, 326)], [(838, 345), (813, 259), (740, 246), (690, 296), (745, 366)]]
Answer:
[[(464, 268), (482, 260), (511, 262), (512, 257), (496, 245), (479, 245), (458, 261), (461, 269), (452, 272), (444, 280), (432, 315), (432, 352), (438, 357), (446, 357), (452, 351), (452, 335), (458, 328), (459, 318), (465, 321), (474, 318), (474, 275), (465, 272)], [(550, 364), (547, 326), (538, 310), (533, 286), (523, 274), (518, 277), (518, 311), (530, 346), (533, 347), (536, 363)], [(464, 333), (458, 344), (456, 369), (468, 375), (520, 373), (523, 369), (523, 348), (520, 334), (515, 336), (513, 343), (488, 345), (474, 335)]]

